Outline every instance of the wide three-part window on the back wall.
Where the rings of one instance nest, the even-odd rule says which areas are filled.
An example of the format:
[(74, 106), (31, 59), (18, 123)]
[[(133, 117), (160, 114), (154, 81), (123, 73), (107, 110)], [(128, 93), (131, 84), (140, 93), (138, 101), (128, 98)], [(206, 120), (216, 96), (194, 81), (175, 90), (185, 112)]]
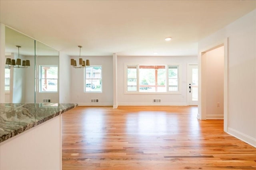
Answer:
[(127, 92), (178, 92), (178, 65), (127, 66)]

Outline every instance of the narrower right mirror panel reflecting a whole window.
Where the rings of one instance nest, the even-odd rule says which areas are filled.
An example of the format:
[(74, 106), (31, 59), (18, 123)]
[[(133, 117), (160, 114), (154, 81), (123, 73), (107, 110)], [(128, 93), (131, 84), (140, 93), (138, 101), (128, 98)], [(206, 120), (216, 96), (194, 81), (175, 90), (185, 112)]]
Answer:
[(59, 52), (36, 41), (36, 103), (59, 103)]

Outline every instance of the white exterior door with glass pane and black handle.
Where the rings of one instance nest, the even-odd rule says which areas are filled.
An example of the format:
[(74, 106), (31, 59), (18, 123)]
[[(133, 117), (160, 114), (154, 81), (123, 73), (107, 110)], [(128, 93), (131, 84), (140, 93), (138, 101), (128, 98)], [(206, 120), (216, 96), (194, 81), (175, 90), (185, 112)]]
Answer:
[(187, 78), (187, 103), (198, 105), (198, 65), (188, 65)]

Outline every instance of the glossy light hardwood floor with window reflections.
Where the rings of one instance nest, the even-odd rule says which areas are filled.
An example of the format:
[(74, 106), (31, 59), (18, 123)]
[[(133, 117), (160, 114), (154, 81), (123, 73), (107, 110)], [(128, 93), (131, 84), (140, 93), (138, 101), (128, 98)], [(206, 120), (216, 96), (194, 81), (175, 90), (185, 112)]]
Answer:
[(76, 107), (62, 114), (63, 170), (256, 169), (256, 148), (196, 106)]

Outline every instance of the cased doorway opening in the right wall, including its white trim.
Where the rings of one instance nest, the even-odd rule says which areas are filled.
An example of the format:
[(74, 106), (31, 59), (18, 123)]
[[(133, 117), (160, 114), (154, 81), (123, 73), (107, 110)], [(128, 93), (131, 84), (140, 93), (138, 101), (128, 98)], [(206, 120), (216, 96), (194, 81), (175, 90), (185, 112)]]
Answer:
[(198, 118), (228, 122), (228, 39), (200, 53)]

